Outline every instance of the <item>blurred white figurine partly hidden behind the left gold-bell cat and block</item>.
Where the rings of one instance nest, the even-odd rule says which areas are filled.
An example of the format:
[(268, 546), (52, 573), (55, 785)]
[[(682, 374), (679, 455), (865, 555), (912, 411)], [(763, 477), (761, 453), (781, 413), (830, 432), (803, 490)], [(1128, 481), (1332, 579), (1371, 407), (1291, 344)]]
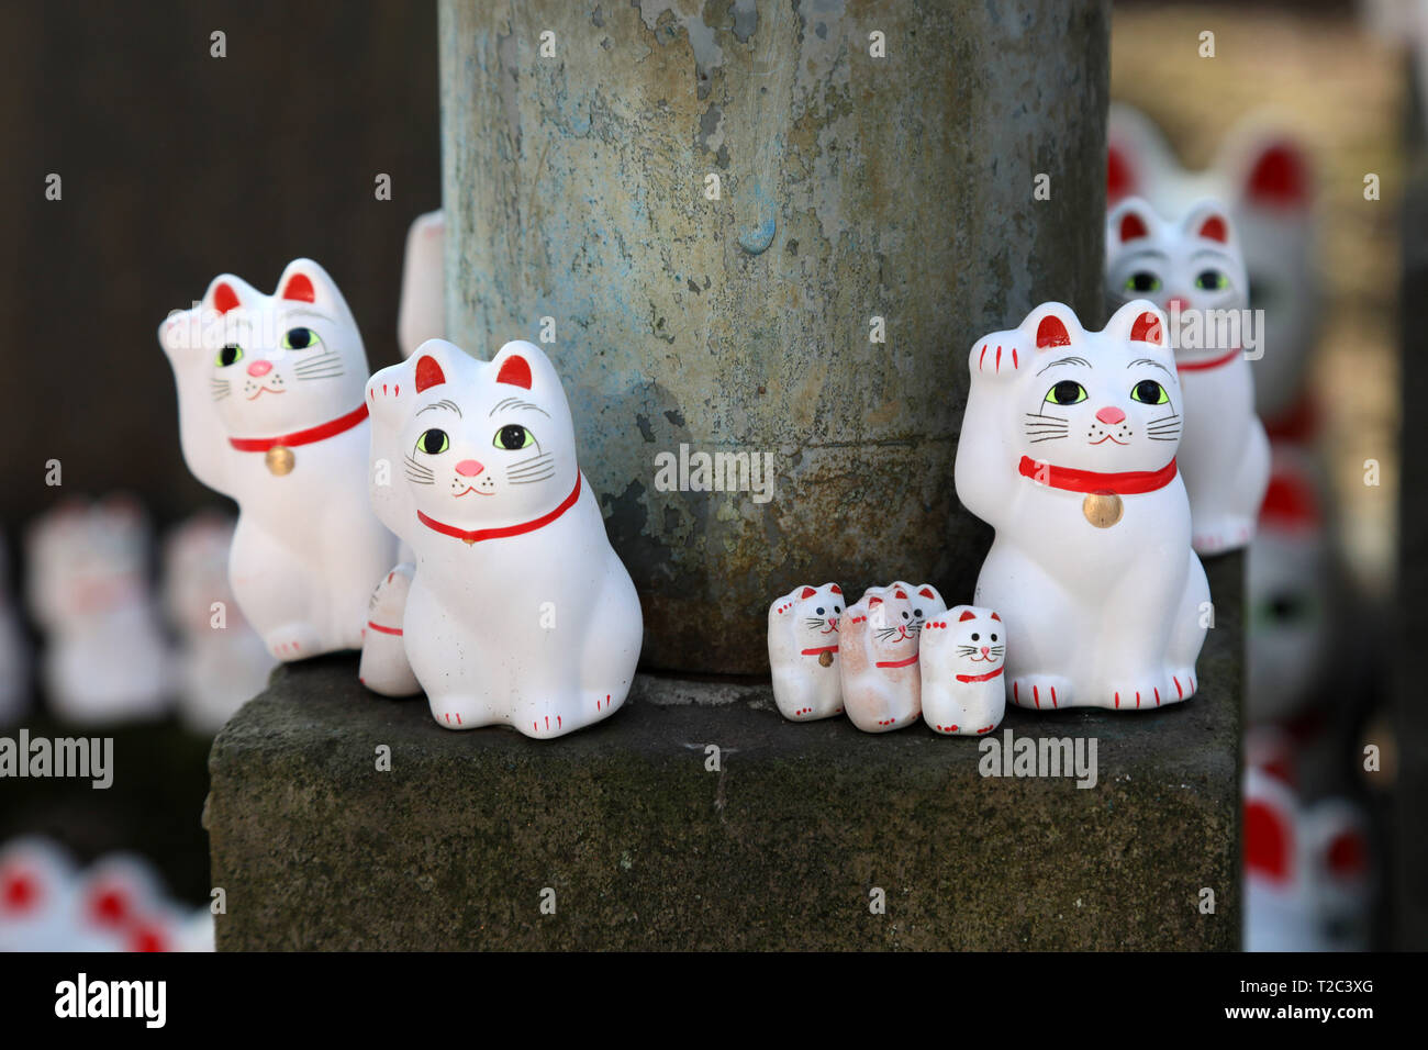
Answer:
[(164, 607), (180, 639), (178, 714), (217, 733), (263, 691), (277, 661), (243, 619), (228, 586), (233, 520), (201, 511), (164, 539)]

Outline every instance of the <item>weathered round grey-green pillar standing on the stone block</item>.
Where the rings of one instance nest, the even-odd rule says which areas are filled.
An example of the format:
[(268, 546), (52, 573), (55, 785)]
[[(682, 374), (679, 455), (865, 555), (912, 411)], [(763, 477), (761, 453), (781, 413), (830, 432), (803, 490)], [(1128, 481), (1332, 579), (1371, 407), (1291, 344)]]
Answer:
[[(767, 670), (800, 581), (970, 599), (965, 351), (1047, 299), (1100, 320), (1107, 21), (443, 0), (448, 334), (490, 357), (550, 319), (648, 667)], [(658, 489), (681, 446), (770, 454), (773, 497)]]

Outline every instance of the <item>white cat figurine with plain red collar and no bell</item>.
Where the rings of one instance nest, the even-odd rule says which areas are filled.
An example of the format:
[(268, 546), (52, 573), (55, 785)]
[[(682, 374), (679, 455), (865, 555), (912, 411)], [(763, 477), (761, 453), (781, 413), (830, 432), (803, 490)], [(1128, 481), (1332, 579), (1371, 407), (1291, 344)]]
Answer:
[(430, 340), (367, 400), (371, 503), (416, 553), (401, 640), (437, 724), (555, 737), (610, 716), (634, 680), (640, 600), (545, 354), (514, 341), (484, 363)]

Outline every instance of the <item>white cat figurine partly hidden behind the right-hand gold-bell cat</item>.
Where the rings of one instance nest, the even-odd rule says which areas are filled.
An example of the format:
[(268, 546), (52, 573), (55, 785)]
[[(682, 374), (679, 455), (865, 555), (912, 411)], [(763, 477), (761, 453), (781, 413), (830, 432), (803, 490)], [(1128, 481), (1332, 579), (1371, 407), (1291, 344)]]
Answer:
[(1228, 311), (1241, 316), (1250, 303), (1234, 224), (1211, 200), (1164, 220), (1130, 197), (1111, 210), (1105, 254), (1112, 303), (1150, 299), (1170, 311), (1184, 397), (1177, 460), (1190, 496), (1191, 541), (1201, 554), (1244, 547), (1269, 480), (1269, 439), (1254, 414), (1254, 376), (1242, 347), (1218, 344), (1217, 333), (1232, 330), (1221, 324)]

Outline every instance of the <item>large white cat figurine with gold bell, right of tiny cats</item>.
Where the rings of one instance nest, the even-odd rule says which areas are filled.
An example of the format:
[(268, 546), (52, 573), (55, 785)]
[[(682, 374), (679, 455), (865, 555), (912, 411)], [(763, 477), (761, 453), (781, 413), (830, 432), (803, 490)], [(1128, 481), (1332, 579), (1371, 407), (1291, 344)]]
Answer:
[(968, 364), (957, 496), (997, 530), (975, 604), (1015, 639), (1008, 699), (1125, 711), (1190, 697), (1210, 586), (1175, 466), (1164, 316), (1137, 300), (1085, 331), (1042, 303)]

